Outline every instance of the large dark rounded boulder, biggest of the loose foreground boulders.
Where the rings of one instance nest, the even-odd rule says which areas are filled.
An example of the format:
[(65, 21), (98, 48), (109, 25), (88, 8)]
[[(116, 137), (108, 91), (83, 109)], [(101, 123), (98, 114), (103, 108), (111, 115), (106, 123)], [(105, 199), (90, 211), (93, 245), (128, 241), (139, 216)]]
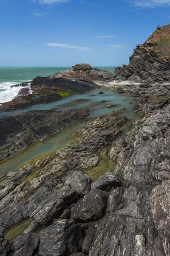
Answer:
[(102, 217), (107, 207), (108, 193), (99, 189), (89, 192), (72, 209), (71, 218), (92, 221)]

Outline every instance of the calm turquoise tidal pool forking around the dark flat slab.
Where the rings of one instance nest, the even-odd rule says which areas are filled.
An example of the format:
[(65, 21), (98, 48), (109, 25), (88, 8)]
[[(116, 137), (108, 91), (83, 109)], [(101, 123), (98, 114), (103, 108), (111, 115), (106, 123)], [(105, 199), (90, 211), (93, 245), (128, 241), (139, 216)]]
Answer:
[[(71, 108), (88, 108), (90, 116), (88, 116), (87, 118), (94, 118), (99, 115), (108, 114), (121, 108), (126, 108), (125, 115), (127, 116), (127, 118), (133, 119), (136, 116), (133, 110), (133, 98), (122, 94), (116, 94), (110, 90), (104, 89), (102, 89), (102, 91), (104, 92), (103, 94), (98, 94), (100, 91), (101, 89), (83, 94), (75, 94), (69, 97), (65, 97), (57, 102), (33, 105), (28, 108), (18, 109), (11, 112), (1, 112), (0, 118), (32, 110), (56, 109), (56, 111), (63, 111)], [(91, 94), (94, 94), (96, 96), (91, 96)], [(114, 104), (115, 107), (105, 108), (105, 106), (108, 104)], [(49, 140), (36, 143), (26, 152), (15, 156), (14, 159), (9, 160), (6, 163), (0, 163), (0, 175), (17, 168), (21, 164), (26, 165), (27, 161), (29, 161), (32, 157), (38, 157), (39, 154), (45, 154), (50, 151), (57, 151), (59, 148), (63, 148), (70, 143), (75, 143), (75, 141), (71, 139), (70, 134), (78, 128), (81, 128), (85, 124), (85, 121), (79, 122), (77, 125), (66, 129), (66, 131), (60, 132), (59, 134), (57, 134), (57, 136), (54, 136)]]

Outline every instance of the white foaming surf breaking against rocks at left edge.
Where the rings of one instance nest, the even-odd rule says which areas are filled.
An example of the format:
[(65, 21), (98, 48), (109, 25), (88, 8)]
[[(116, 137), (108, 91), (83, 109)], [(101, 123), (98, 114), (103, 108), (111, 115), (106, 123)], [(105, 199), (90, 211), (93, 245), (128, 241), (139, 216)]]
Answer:
[(10, 86), (14, 84), (17, 84), (17, 82), (0, 83), (0, 103), (11, 101), (17, 96), (19, 90), (24, 88), (22, 86), (11, 88)]

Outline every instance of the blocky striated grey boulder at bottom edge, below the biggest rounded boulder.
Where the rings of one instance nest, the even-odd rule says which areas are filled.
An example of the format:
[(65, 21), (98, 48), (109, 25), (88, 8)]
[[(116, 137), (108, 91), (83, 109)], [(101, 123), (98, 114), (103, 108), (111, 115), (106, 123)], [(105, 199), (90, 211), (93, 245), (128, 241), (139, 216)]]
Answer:
[(74, 220), (54, 221), (40, 232), (40, 256), (65, 256), (82, 247), (82, 230)]

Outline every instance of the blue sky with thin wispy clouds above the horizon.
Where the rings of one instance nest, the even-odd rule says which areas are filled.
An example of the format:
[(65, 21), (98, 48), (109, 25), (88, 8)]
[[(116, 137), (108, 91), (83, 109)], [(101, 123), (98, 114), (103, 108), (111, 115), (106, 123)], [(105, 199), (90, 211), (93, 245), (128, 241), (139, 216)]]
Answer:
[(1, 0), (0, 66), (128, 64), (170, 0)]

